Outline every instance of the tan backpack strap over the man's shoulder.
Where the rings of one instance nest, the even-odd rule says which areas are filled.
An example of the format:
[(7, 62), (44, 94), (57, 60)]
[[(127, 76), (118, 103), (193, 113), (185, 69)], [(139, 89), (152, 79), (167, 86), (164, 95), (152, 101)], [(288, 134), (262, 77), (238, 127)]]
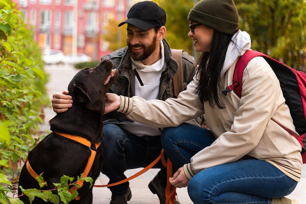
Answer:
[(174, 94), (177, 97), (179, 92), (184, 90), (184, 83), (183, 83), (183, 68), (182, 68), (182, 52), (183, 50), (178, 49), (171, 49), (172, 57), (178, 63), (178, 69), (173, 76), (173, 89)]

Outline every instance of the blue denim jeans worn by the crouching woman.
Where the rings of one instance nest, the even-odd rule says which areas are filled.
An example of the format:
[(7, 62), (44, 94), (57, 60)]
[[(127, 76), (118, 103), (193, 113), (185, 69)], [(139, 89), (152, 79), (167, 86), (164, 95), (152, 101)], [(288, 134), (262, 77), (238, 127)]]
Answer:
[[(161, 134), (176, 169), (215, 140), (210, 130), (188, 123), (165, 128)], [(246, 159), (198, 172), (188, 183), (188, 193), (195, 204), (270, 204), (271, 198), (290, 194), (296, 185), (270, 163)]]

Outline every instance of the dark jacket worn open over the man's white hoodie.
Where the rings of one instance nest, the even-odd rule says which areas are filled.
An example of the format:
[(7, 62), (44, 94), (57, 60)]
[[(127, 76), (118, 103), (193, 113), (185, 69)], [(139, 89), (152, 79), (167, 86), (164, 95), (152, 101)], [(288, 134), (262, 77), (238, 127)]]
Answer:
[[(166, 100), (170, 97), (175, 97), (173, 89), (173, 76), (178, 69), (178, 63), (172, 58), (171, 48), (166, 40), (162, 40), (165, 49), (165, 71), (161, 74), (158, 99)], [(127, 97), (135, 95), (135, 74), (131, 66), (131, 57), (128, 47), (121, 48), (101, 58), (101, 61), (109, 58), (114, 63), (114, 69), (118, 69), (119, 77), (116, 82), (110, 87), (109, 92), (116, 93)], [(191, 82), (195, 71), (195, 59), (188, 55), (187, 52), (182, 54), (182, 70), (184, 89)], [(104, 124), (128, 124), (132, 121), (126, 116), (117, 111), (112, 111), (104, 116)]]

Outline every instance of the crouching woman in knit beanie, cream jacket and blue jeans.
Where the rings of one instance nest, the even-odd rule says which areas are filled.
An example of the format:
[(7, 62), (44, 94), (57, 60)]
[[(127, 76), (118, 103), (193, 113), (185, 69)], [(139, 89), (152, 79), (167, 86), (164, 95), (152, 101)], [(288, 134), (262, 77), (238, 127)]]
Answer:
[[(297, 203), (284, 196), (300, 181), (301, 145), (276, 123), (295, 132), (268, 63), (262, 57), (248, 63), (241, 99), (221, 92), (251, 45), (250, 36), (238, 29), (234, 2), (201, 0), (188, 20), (188, 36), (202, 55), (187, 90), (166, 101), (108, 94), (105, 113), (117, 109), (133, 121), (169, 127), (163, 130), (162, 144), (178, 169), (170, 182), (188, 186), (195, 204)], [(183, 123), (203, 113), (209, 130)]]

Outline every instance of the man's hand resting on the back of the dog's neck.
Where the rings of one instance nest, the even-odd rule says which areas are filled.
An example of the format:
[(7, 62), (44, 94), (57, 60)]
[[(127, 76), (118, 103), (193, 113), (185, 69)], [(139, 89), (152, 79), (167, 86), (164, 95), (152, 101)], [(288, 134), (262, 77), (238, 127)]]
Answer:
[(72, 107), (72, 97), (68, 93), (68, 90), (64, 90), (53, 94), (51, 102), (54, 112), (63, 113)]

